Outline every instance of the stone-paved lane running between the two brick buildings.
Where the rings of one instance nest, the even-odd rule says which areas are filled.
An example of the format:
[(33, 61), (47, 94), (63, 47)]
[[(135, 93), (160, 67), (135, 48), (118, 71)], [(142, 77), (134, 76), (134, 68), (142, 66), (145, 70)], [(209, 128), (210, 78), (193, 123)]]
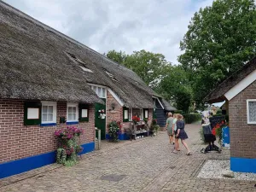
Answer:
[(256, 191), (255, 182), (198, 178), (207, 159), (229, 159), (229, 150), (201, 154), (200, 125), (187, 125), (189, 147), (172, 154), (166, 132), (156, 137), (102, 143), (102, 149), (83, 155), (73, 167), (50, 165), (0, 180), (0, 191)]

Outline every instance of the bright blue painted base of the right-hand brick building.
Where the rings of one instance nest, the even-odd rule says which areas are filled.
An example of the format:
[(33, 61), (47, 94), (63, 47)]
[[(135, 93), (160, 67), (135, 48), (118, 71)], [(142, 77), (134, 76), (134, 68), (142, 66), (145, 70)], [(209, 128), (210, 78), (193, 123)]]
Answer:
[(230, 170), (233, 172), (256, 173), (256, 159), (230, 157)]

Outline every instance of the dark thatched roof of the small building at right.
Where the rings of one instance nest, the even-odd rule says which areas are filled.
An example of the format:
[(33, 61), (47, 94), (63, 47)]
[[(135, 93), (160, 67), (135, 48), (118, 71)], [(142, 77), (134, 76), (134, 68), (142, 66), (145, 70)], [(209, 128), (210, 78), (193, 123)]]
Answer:
[(256, 70), (256, 57), (252, 61), (248, 61), (241, 69), (233, 73), (228, 79), (225, 79), (223, 83), (213, 90), (206, 98), (206, 102), (223, 102), (225, 100), (224, 94), (228, 92), (232, 87), (238, 84), (242, 79), (245, 79), (248, 74)]

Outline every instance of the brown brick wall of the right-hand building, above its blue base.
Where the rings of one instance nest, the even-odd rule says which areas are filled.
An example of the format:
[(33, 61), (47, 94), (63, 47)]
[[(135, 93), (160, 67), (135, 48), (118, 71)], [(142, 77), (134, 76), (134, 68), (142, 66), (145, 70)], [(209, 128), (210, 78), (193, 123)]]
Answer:
[(230, 155), (256, 158), (256, 125), (247, 124), (247, 99), (256, 99), (256, 81), (229, 102)]

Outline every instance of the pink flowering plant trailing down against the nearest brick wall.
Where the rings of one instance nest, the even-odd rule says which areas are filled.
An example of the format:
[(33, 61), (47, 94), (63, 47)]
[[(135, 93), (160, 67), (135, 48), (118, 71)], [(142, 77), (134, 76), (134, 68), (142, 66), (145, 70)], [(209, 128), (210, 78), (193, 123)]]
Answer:
[(58, 138), (57, 163), (65, 166), (73, 166), (77, 162), (77, 157), (83, 148), (78, 144), (79, 136), (83, 130), (74, 126), (67, 126), (64, 129), (55, 131)]

